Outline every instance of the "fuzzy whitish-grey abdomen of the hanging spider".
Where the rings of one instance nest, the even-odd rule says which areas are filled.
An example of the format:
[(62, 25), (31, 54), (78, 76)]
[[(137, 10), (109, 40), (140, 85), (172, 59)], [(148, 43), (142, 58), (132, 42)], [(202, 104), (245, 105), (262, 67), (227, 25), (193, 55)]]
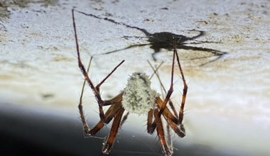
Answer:
[(147, 113), (153, 108), (156, 96), (148, 76), (145, 73), (134, 72), (124, 88), (122, 105), (130, 113)]

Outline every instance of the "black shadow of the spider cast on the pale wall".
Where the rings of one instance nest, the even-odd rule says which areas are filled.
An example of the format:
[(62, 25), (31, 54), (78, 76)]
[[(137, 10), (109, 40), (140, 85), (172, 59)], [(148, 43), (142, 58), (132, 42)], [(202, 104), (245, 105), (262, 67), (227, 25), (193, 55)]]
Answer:
[[(215, 57), (215, 59), (210, 60), (208, 62), (202, 63), (200, 66), (202, 65), (206, 65), (207, 63), (210, 62), (214, 62), (215, 60), (220, 59), (223, 55), (227, 54), (227, 52), (222, 52), (219, 50), (214, 50), (214, 49), (210, 49), (210, 48), (202, 48), (202, 47), (194, 47), (194, 46), (190, 46), (188, 44), (200, 44), (200, 43), (215, 43), (215, 42), (211, 42), (211, 41), (197, 41), (195, 43), (187, 43), (187, 41), (190, 40), (195, 40), (199, 37), (201, 37), (202, 35), (205, 35), (205, 31), (202, 30), (194, 30), (193, 31), (197, 31), (199, 34), (195, 35), (193, 37), (187, 37), (185, 35), (178, 35), (175, 33), (171, 33), (171, 32), (158, 32), (158, 33), (149, 33), (146, 29), (144, 28), (139, 28), (136, 26), (129, 26), (126, 23), (120, 23), (117, 21), (114, 21), (110, 18), (102, 18), (99, 16), (96, 16), (92, 13), (85, 13), (82, 11), (77, 11), (79, 13), (82, 13), (86, 16), (92, 16), (94, 18), (98, 18), (98, 19), (102, 19), (105, 21), (109, 21), (112, 23), (115, 23), (117, 25), (122, 25), (122, 26), (126, 26), (126, 28), (134, 28), (136, 30), (140, 30), (142, 33), (144, 33), (144, 35), (146, 35), (147, 41), (148, 43), (143, 43), (143, 44), (135, 44), (135, 45), (130, 45), (126, 48), (122, 48), (119, 50), (112, 50), (110, 52), (104, 52), (101, 55), (106, 55), (106, 54), (110, 54), (113, 52), (119, 52), (121, 50), (126, 50), (129, 48), (135, 48), (135, 47), (141, 47), (141, 46), (146, 46), (146, 45), (150, 45), (150, 48), (153, 49), (153, 53), (152, 53), (152, 58), (154, 61), (156, 61), (156, 53), (160, 52), (161, 49), (166, 49), (166, 50), (173, 50), (173, 46), (171, 45), (171, 43), (173, 42), (172, 38), (175, 38), (175, 40), (178, 40), (177, 45), (175, 46), (178, 49), (183, 49), (183, 50), (195, 50), (195, 51), (203, 51), (203, 52), (210, 52), (211, 56)], [(124, 36), (123, 38), (131, 38), (132, 36)], [(135, 36), (135, 38), (144, 38), (144, 37), (139, 37), (139, 36)], [(197, 59), (202, 59), (202, 58), (206, 58), (206, 57), (210, 57), (210, 56), (198, 56), (198, 57), (194, 57), (191, 60), (197, 60)]]

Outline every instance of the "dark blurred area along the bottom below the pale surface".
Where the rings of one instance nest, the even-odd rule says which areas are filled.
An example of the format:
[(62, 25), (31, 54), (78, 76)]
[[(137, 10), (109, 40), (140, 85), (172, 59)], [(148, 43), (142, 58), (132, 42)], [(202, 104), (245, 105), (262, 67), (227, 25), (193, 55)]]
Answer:
[[(102, 139), (84, 138), (80, 120), (73, 118), (74, 116), (59, 116), (59, 113), (61, 112), (53, 114), (41, 108), (29, 109), (12, 104), (0, 104), (1, 155), (103, 155), (101, 152)], [(132, 141), (134, 138), (131, 135), (121, 133), (121, 130), (120, 136), (121, 150), (117, 150), (119, 145), (114, 145), (110, 155), (161, 154), (158, 145), (156, 145), (156, 149), (153, 149), (155, 151), (153, 152), (149, 150), (146, 143)], [(174, 151), (174, 155), (225, 156), (228, 154), (202, 145), (180, 145), (178, 150)]]

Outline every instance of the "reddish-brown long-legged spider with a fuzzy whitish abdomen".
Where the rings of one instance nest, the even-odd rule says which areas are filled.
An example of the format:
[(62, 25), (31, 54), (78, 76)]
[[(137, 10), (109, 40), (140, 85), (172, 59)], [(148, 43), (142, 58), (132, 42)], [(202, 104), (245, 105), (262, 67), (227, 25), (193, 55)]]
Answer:
[[(183, 74), (183, 70), (180, 66), (180, 60), (178, 57), (178, 53), (176, 51), (176, 42), (173, 44), (173, 60), (171, 66), (171, 85), (166, 93), (166, 98), (161, 99), (159, 94), (151, 89), (151, 81), (149, 77), (143, 72), (134, 72), (131, 74), (129, 79), (127, 80), (126, 87), (120, 91), (117, 96), (109, 100), (102, 99), (100, 94), (100, 87), (102, 84), (113, 74), (113, 72), (124, 63), (122, 60), (112, 72), (110, 72), (107, 77), (105, 77), (99, 84), (96, 86), (92, 83), (92, 80), (88, 76), (88, 69), (85, 69), (85, 66), (82, 64), (80, 58), (80, 50), (79, 43), (77, 40), (77, 30), (75, 25), (75, 10), (72, 9), (72, 23), (75, 32), (75, 44), (77, 50), (77, 62), (80, 70), (85, 78), (85, 82), (90, 86), (92, 92), (95, 94), (95, 99), (97, 100), (98, 108), (99, 108), (99, 118), (100, 121), (93, 127), (90, 128), (85, 119), (85, 114), (82, 108), (82, 94), (85, 87), (85, 82), (82, 87), (82, 94), (80, 96), (79, 103), (79, 112), (80, 118), (82, 120), (83, 130), (87, 135), (95, 136), (99, 130), (101, 130), (106, 124), (112, 121), (112, 127), (109, 131), (109, 135), (104, 139), (104, 144), (102, 146), (102, 152), (104, 154), (109, 154), (112, 150), (112, 146), (114, 144), (114, 140), (117, 136), (118, 130), (120, 126), (126, 121), (129, 113), (137, 113), (137, 114), (147, 114), (147, 133), (153, 134), (156, 131), (159, 142), (161, 143), (161, 147), (164, 155), (172, 155), (173, 150), (168, 145), (168, 139), (166, 139), (166, 134), (164, 133), (163, 124), (166, 121), (167, 126), (173, 129), (173, 131), (180, 137), (183, 138), (185, 136), (185, 128), (183, 126), (183, 112), (185, 106), (185, 98), (188, 91), (188, 85), (185, 82), (185, 77)], [(92, 58), (92, 57), (91, 57)], [(91, 59), (92, 60), (92, 59)], [(175, 61), (176, 60), (176, 61)], [(179, 113), (176, 113), (175, 108), (170, 100), (171, 94), (173, 93), (173, 73), (175, 62), (177, 62), (178, 69), (180, 70), (180, 76), (183, 80), (183, 95), (182, 102), (180, 105)], [(153, 67), (152, 67), (153, 68)], [(157, 70), (157, 69), (156, 69)], [(154, 72), (156, 73), (156, 70)], [(156, 74), (157, 75), (157, 74)], [(167, 104), (169, 104), (173, 110), (168, 108)], [(109, 106), (106, 112), (104, 112), (103, 107)], [(125, 115), (124, 115), (124, 112)], [(162, 120), (164, 118), (165, 120)], [(170, 134), (168, 134), (170, 135)]]

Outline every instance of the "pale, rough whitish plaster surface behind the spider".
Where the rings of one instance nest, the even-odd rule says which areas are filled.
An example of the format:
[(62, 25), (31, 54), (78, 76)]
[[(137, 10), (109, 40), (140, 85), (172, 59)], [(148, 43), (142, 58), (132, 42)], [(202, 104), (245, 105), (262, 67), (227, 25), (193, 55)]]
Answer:
[[(77, 117), (82, 75), (75, 56), (73, 6), (150, 33), (168, 31), (193, 36), (195, 33), (188, 30), (204, 30), (206, 35), (198, 40), (216, 43), (190, 45), (227, 54), (200, 67), (210, 58), (190, 60), (200, 52), (178, 50), (189, 90), (185, 108), (187, 136), (181, 141), (175, 137), (175, 143), (198, 143), (239, 155), (270, 155), (266, 147), (270, 143), (270, 1), (0, 1), (2, 102), (48, 111), (65, 109)], [(75, 16), (85, 65), (90, 55), (147, 43), (145, 38), (122, 38), (144, 37), (139, 30), (79, 13)], [(94, 58), (90, 76), (93, 82), (99, 82), (117, 63), (126, 60), (102, 87), (104, 98), (114, 96), (124, 88), (132, 72), (152, 73), (146, 62), (153, 62), (152, 52), (144, 46), (99, 55)], [(157, 55), (159, 61), (166, 61), (160, 69), (166, 88), (170, 83), (171, 56), (172, 52), (166, 50)], [(160, 89), (157, 80), (153, 79), (152, 85)], [(181, 91), (178, 78), (175, 104), (179, 104)], [(90, 89), (85, 103), (95, 104)], [(89, 109), (86, 106), (89, 116), (97, 116), (97, 109)], [(128, 125), (143, 129), (135, 123), (146, 121), (146, 117), (139, 119), (130, 120)]]

